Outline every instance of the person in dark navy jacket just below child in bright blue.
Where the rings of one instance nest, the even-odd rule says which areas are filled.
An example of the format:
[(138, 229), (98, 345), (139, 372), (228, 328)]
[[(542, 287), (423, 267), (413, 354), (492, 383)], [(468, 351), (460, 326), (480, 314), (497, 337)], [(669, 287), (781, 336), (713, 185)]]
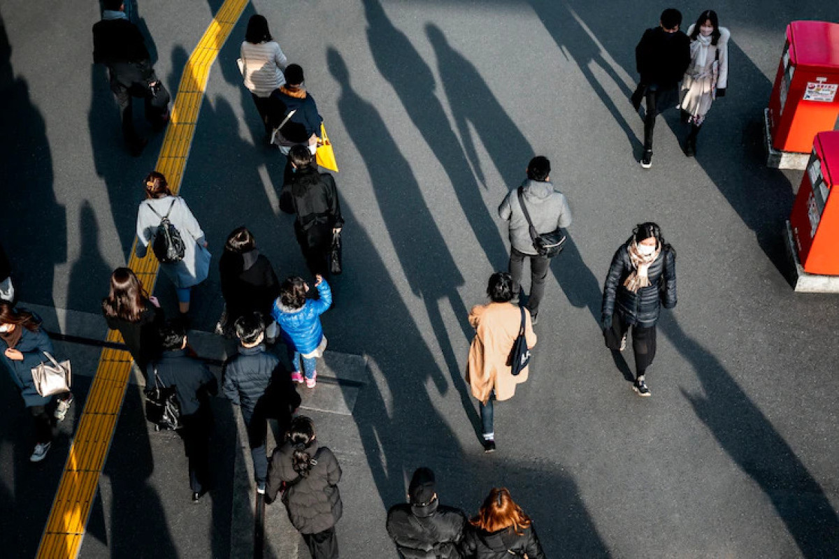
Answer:
[(300, 395), (277, 356), (265, 349), (263, 318), (258, 313), (246, 314), (237, 319), (235, 330), (239, 350), (224, 365), (221, 386), (224, 395), (242, 411), (257, 491), (263, 494), (268, 478), (268, 417), (277, 419), (280, 432), (284, 432), (292, 412), (300, 406)]

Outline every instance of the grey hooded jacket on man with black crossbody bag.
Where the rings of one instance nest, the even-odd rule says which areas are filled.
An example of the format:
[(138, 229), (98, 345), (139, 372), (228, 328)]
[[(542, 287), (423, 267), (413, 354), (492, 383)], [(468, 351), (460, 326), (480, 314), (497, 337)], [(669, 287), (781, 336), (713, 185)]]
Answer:
[[(557, 227), (571, 225), (571, 208), (565, 194), (554, 189), (550, 182), (526, 179), (522, 183), (524, 203), (533, 220), (536, 232), (550, 233)], [(498, 215), (510, 222), (510, 244), (519, 252), (539, 254), (530, 238), (529, 225), (519, 205), (518, 189), (510, 190), (498, 206)]]

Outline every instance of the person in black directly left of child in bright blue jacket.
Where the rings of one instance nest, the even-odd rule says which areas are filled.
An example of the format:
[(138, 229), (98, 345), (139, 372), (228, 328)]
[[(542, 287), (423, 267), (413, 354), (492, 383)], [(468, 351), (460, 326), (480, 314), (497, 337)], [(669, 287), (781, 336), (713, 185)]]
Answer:
[(225, 320), (221, 333), (232, 333), (236, 321), (252, 313), (260, 313), (267, 327), (266, 338), (273, 342), (277, 327), (271, 318), (274, 299), (279, 296), (279, 281), (274, 267), (257, 248), (247, 227), (237, 227), (227, 236), (224, 252), (218, 262), (221, 295), (225, 302)]

